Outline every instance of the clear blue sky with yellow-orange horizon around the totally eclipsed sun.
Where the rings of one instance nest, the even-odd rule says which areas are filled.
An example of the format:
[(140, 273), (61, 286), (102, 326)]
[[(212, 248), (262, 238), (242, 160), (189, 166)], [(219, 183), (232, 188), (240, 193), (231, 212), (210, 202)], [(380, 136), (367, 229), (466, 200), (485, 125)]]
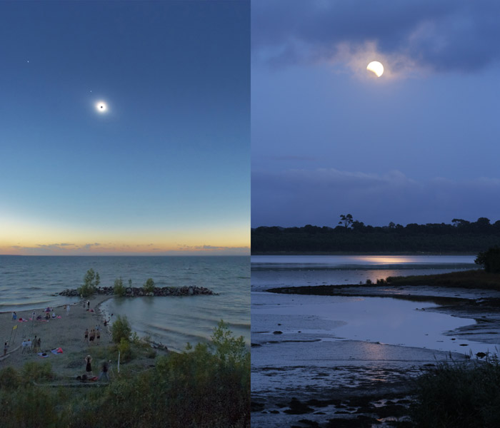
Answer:
[(0, 254), (249, 254), (249, 26), (248, 1), (0, 2)]

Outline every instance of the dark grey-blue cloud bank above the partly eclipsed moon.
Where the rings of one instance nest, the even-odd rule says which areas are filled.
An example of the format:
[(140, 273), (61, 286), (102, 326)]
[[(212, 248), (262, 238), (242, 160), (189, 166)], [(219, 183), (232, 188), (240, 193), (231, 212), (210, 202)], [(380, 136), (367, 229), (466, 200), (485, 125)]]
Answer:
[(329, 61), (367, 42), (434, 71), (471, 72), (500, 58), (499, 1), (257, 0), (251, 9), (253, 61)]

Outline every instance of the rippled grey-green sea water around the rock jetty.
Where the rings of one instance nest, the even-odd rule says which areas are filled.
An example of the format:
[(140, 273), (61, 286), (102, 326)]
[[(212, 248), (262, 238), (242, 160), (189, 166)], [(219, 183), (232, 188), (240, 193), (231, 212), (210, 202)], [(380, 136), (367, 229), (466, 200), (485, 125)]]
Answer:
[(76, 288), (90, 268), (101, 286), (117, 277), (141, 287), (153, 278), (157, 287), (197, 285), (219, 295), (191, 297), (114, 297), (102, 308), (126, 315), (139, 335), (149, 335), (172, 350), (207, 340), (219, 320), (235, 335), (250, 340), (250, 258), (245, 256), (11, 256), (0, 255), (0, 312), (64, 305), (76, 298), (54, 295)]

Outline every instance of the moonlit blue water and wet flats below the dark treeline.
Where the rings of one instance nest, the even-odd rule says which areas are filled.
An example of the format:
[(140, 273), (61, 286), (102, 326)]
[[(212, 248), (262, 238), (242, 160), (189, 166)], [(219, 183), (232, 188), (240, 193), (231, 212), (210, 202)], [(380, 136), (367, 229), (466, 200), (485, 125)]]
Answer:
[[(359, 284), (475, 267), (474, 256), (253, 256), (251, 385), (256, 402), (267, 403), (267, 413), (254, 412), (252, 424), (289, 426), (293, 416), (273, 406), (291, 397), (331, 399), (351, 388), (373, 387), (370, 382), (416, 376), (419, 367), (450, 351), (464, 358), (491, 347), (449, 335), (474, 320), (422, 310), (436, 306), (431, 302), (281, 295), (266, 289)], [(271, 410), (277, 416), (270, 416)]]

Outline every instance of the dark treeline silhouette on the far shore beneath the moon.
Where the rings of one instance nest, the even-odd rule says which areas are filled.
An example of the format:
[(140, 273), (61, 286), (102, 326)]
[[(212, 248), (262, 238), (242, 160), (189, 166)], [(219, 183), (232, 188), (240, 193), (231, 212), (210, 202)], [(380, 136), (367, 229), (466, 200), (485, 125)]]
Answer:
[(451, 224), (389, 223), (364, 225), (351, 214), (341, 215), (336, 228), (306, 225), (251, 230), (251, 253), (467, 253), (476, 254), (500, 244), (500, 220), (481, 217), (475, 222), (454, 218)]

